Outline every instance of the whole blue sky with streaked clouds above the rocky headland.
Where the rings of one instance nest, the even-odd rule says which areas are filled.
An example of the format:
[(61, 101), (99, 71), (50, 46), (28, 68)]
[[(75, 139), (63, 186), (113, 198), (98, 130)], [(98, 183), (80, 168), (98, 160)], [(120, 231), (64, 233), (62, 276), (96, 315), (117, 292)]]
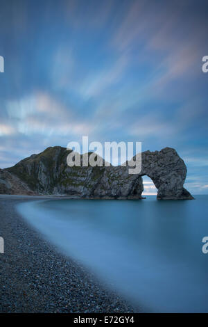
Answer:
[(137, 141), (175, 148), (208, 193), (207, 27), (206, 0), (0, 0), (0, 168), (82, 136)]

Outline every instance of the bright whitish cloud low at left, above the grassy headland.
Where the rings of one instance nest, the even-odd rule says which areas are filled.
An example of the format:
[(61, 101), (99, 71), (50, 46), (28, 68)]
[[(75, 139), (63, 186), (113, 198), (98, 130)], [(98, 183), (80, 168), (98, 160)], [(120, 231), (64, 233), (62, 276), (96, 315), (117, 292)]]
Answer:
[[(74, 117), (75, 109), (65, 107), (46, 93), (35, 93), (6, 104), (10, 122), (21, 134), (80, 135), (89, 134), (92, 125)], [(3, 125), (4, 134), (13, 129)]]

